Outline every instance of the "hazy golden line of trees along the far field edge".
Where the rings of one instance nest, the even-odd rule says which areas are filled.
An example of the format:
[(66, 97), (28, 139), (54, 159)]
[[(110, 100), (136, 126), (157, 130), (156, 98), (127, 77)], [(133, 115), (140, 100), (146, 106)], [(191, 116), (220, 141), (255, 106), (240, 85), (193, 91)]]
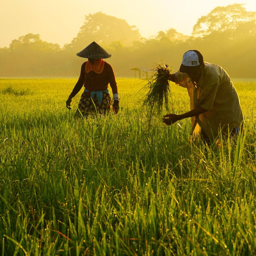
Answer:
[(86, 59), (76, 53), (92, 41), (112, 54), (106, 61), (118, 77), (133, 77), (131, 68), (151, 68), (161, 60), (177, 70), (183, 53), (190, 49), (199, 50), (205, 61), (221, 65), (232, 77), (256, 77), (256, 12), (247, 12), (242, 4), (216, 7), (198, 19), (192, 36), (170, 28), (142, 38), (138, 28), (123, 19), (89, 14), (77, 37), (62, 48), (38, 34), (21, 36), (0, 48), (0, 76), (78, 77)]

